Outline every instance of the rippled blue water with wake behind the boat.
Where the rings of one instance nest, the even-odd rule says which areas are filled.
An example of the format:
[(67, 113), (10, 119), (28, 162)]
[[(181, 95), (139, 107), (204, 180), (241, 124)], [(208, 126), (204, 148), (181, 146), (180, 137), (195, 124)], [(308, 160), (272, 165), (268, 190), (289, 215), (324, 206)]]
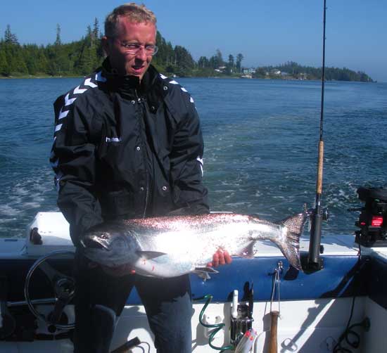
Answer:
[[(56, 97), (81, 78), (0, 80), (0, 237), (24, 236), (39, 211), (57, 211), (49, 154)], [(275, 221), (315, 200), (321, 83), (189, 79), (205, 139), (214, 211)], [(355, 230), (356, 190), (387, 187), (387, 84), (326, 82), (323, 233)]]

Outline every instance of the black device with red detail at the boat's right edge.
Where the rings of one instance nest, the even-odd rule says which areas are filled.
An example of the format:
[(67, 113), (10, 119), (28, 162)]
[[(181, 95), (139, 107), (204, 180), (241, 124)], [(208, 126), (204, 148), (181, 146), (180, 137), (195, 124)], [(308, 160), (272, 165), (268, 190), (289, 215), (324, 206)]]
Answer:
[(387, 189), (366, 188), (357, 189), (359, 199), (364, 207), (350, 208), (349, 211), (360, 211), (355, 226), (355, 242), (367, 248), (387, 247)]

